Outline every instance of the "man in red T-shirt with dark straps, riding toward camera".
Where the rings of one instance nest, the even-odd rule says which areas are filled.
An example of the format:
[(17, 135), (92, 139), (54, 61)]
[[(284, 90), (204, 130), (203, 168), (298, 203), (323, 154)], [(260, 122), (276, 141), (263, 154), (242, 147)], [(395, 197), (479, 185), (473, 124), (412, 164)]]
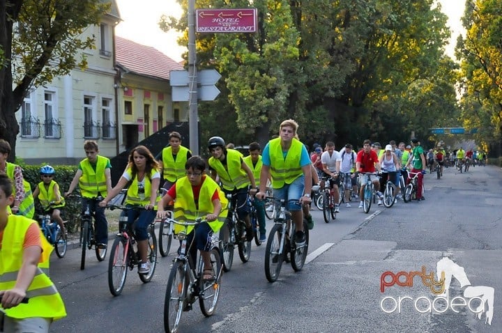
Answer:
[[(363, 149), (359, 151), (356, 157), (356, 170), (359, 172), (381, 172), (380, 162), (377, 153), (371, 148), (371, 141), (366, 139), (363, 142)], [(364, 189), (366, 187), (365, 183), (366, 175), (359, 175), (359, 197), (361, 199), (359, 203), (359, 208), (363, 208), (364, 199)], [(370, 180), (372, 181), (377, 194), (379, 195), (379, 205), (382, 204), (381, 192), (380, 192), (380, 182), (376, 175), (370, 175)]]

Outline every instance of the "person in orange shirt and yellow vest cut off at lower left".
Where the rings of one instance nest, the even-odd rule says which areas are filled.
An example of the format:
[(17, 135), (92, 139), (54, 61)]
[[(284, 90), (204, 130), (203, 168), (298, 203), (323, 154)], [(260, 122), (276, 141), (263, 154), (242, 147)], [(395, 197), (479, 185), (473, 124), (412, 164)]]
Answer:
[[(56, 286), (47, 277), (52, 246), (38, 223), (9, 215), (13, 184), (0, 175), (0, 321), (3, 332), (49, 332), (50, 324), (66, 316)], [(22, 303), (24, 298), (27, 303)]]

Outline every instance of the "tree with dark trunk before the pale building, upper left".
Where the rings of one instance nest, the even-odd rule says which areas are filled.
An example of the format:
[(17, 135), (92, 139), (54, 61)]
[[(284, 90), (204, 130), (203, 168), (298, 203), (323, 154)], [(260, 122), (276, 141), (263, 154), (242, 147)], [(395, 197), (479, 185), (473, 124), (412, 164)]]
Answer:
[(93, 48), (94, 38), (79, 35), (108, 8), (100, 0), (0, 1), (0, 138), (13, 150), (9, 160), (19, 133), (15, 112), (27, 93), (86, 66), (85, 54), (77, 54)]

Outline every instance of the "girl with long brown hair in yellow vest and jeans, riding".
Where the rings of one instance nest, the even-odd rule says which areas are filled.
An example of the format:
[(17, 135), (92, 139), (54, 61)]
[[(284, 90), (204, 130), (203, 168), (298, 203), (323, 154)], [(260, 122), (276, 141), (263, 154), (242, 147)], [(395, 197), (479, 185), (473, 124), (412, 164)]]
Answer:
[[(126, 196), (126, 207), (144, 206), (145, 209), (130, 209), (122, 212), (127, 215), (128, 224), (135, 224), (135, 239), (138, 245), (139, 258), (141, 263), (138, 272), (148, 274), (150, 272), (150, 261), (148, 259), (148, 229), (149, 224), (155, 217), (155, 210), (160, 185), (160, 172), (158, 162), (150, 153), (149, 148), (137, 146), (132, 149), (129, 155), (129, 163), (122, 174), (119, 182), (111, 189), (105, 199), (100, 202), (101, 207), (121, 192), (121, 189), (128, 185)], [(169, 201), (167, 201), (169, 202)]]

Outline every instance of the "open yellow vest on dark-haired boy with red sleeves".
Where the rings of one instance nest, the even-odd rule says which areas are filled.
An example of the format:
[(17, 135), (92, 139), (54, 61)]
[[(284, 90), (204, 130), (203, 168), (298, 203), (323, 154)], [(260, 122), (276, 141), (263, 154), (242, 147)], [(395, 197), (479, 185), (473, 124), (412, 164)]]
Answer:
[[(178, 222), (195, 221), (197, 217), (213, 214), (214, 206), (211, 198), (213, 198), (216, 190), (218, 190), (218, 196), (220, 196), (222, 210), (220, 215), (218, 215), (218, 219), (208, 222), (208, 224), (213, 229), (213, 232), (218, 232), (228, 215), (228, 200), (218, 184), (208, 176), (204, 176), (202, 179), (198, 200), (199, 209), (195, 206), (192, 184), (190, 184), (188, 177), (185, 176), (178, 179), (176, 182), (176, 200), (174, 201), (174, 219)], [(183, 229), (185, 229), (184, 226), (176, 224), (174, 226), (174, 233), (179, 233)], [(192, 229), (193, 226), (188, 227), (188, 233), (192, 232)]]

